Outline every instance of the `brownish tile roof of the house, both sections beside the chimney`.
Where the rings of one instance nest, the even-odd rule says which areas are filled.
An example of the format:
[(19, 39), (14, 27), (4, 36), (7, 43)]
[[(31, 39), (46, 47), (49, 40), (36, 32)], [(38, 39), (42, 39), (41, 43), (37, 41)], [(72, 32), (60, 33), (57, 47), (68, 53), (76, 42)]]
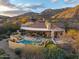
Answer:
[[(36, 21), (31, 25), (24, 25), (23, 27), (28, 27), (28, 28), (39, 28), (39, 29), (47, 29), (46, 23), (45, 21)], [(49, 28), (50, 30), (62, 30), (61, 27), (57, 26), (57, 25), (52, 25)]]

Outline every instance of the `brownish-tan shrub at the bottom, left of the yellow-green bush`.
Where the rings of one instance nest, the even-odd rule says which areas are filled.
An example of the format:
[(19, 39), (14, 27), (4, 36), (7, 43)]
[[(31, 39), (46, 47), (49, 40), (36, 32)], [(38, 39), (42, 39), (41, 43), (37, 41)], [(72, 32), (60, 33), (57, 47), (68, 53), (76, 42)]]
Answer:
[(24, 49), (26, 59), (44, 59), (44, 48), (38, 46), (26, 46)]

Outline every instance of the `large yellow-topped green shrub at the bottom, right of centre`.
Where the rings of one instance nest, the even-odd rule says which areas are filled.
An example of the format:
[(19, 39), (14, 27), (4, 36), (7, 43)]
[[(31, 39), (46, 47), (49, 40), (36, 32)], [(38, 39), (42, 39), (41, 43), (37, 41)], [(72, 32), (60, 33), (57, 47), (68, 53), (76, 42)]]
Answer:
[(46, 59), (65, 59), (66, 57), (64, 50), (56, 45), (49, 44), (46, 49)]

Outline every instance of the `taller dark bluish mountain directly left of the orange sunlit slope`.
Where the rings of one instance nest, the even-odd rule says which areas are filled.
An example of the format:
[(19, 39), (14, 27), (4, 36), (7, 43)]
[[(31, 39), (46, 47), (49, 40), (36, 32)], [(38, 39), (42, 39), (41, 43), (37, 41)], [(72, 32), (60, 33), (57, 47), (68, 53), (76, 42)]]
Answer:
[(46, 9), (43, 12), (41, 12), (42, 17), (44, 18), (51, 18), (52, 16), (56, 15), (57, 13), (63, 12), (67, 10), (68, 8), (62, 8), (62, 9)]

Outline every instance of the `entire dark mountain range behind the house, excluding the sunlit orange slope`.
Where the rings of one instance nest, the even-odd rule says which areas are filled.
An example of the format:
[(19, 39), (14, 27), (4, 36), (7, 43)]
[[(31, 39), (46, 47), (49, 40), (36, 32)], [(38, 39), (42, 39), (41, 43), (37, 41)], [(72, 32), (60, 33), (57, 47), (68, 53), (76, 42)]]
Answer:
[(41, 13), (28, 12), (28, 13), (24, 13), (22, 15), (18, 15), (18, 16), (12, 17), (12, 19), (17, 19), (17, 18), (28, 18), (28, 19), (34, 18), (36, 20), (43, 19), (43, 18), (50, 19), (53, 15), (55, 15), (57, 13), (60, 13), (62, 11), (65, 11), (67, 9), (68, 8), (63, 8), (63, 9), (46, 9), (46, 10), (44, 10)]

